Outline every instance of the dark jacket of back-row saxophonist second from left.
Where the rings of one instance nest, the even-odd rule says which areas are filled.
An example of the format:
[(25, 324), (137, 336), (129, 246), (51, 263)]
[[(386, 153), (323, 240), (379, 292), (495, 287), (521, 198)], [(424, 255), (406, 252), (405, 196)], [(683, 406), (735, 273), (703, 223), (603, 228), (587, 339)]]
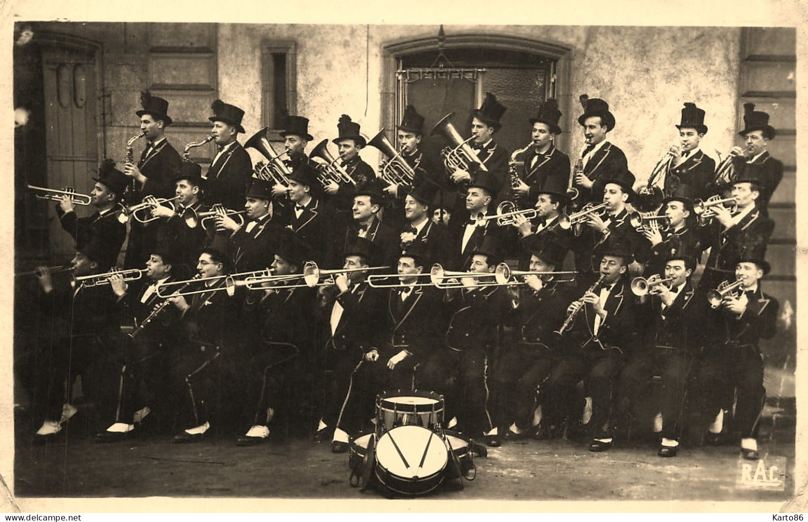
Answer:
[(244, 194), (250, 187), (252, 172), (250, 154), (236, 141), (208, 168), (208, 187), (205, 189), (204, 203), (208, 206), (220, 203), (225, 205), (225, 208), (242, 209)]

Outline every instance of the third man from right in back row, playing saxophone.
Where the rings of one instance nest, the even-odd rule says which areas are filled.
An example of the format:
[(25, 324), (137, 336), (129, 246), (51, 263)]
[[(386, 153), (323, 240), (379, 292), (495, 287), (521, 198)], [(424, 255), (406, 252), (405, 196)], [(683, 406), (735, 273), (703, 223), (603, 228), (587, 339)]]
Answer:
[(579, 116), (578, 123), (583, 127), (586, 146), (581, 151), (580, 163), (576, 162), (574, 187), (579, 190), (583, 203), (600, 203), (592, 183), (629, 170), (629, 164), (623, 151), (607, 140), (608, 133), (612, 132), (616, 123), (608, 103), (587, 95), (580, 95), (579, 98), (583, 114)]

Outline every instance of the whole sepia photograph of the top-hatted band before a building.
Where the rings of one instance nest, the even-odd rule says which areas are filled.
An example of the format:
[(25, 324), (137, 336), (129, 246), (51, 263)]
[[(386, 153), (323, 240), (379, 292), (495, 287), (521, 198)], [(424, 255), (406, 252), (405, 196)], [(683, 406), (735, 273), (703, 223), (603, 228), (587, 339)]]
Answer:
[(17, 499), (802, 486), (797, 27), (259, 19), (15, 19)]

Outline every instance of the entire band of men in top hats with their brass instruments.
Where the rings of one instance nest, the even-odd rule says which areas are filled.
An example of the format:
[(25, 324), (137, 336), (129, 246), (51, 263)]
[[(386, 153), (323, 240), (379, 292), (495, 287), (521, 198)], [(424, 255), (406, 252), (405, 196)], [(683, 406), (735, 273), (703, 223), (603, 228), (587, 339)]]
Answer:
[[(123, 170), (104, 162), (89, 196), (29, 187), (58, 201), (76, 242), (71, 265), (32, 272), (51, 325), (34, 440), (63, 435), (81, 376), (86, 397), (116, 396), (99, 442), (137, 436), (152, 410), (178, 416), (174, 440), (194, 442), (231, 407), (247, 419), (238, 444), (259, 444), (278, 415), (294, 419), (301, 389), (319, 387), (314, 438), (335, 453), (385, 389), (442, 394), (448, 427), (490, 446), (583, 425), (602, 452), (628, 436), (656, 376), (659, 456), (676, 455), (688, 409), (718, 440), (735, 390), (741, 452), (758, 458), (759, 339), (778, 309), (761, 284), (767, 204), (783, 174), (768, 114), (747, 103), (745, 146), (716, 166), (699, 147), (705, 112), (684, 103), (678, 145), (635, 189), (608, 141), (608, 103), (580, 100), (586, 148), (571, 160), (554, 143), (555, 99), (510, 154), (496, 141), (506, 107), (490, 93), (468, 139), (452, 115), (432, 129), (448, 141), (441, 158), (419, 146), (412, 106), (398, 147), (343, 115), (332, 156), (327, 140), (305, 153), (302, 116), (288, 116), (280, 154), (266, 128), (242, 145), (244, 112), (221, 100), (211, 135), (181, 156), (168, 102), (142, 93)], [(203, 176), (190, 149), (208, 141)], [(378, 174), (360, 158), (367, 145), (387, 157)], [(253, 166), (245, 147), (267, 162)], [(78, 217), (77, 204), (96, 212)]]

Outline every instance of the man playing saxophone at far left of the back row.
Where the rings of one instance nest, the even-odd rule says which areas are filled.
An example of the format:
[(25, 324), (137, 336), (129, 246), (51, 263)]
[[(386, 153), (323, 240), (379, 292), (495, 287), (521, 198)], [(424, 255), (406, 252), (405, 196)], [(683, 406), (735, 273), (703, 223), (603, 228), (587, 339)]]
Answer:
[[(127, 205), (140, 203), (144, 196), (170, 199), (174, 192), (173, 179), (179, 175), (183, 160), (177, 150), (166, 140), (166, 127), (172, 123), (168, 116), (168, 102), (141, 92), (141, 133), (145, 134), (146, 146), (137, 164), (127, 162), (124, 174), (132, 178), (135, 190), (128, 196)], [(126, 268), (142, 267), (149, 259), (150, 250), (158, 246), (158, 229), (162, 222), (141, 223), (131, 220), (129, 242), (126, 247)]]

